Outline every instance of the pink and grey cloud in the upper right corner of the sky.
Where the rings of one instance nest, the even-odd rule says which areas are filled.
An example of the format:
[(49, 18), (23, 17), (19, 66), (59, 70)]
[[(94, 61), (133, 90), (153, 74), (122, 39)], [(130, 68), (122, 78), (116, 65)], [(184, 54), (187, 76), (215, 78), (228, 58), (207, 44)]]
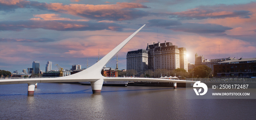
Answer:
[(223, 34), (227, 35), (255, 35), (255, 32), (252, 31), (256, 28), (255, 5), (256, 2), (248, 4), (199, 6), (198, 8), (189, 9), (187, 11), (175, 12), (171, 18), (196, 23), (218, 24), (233, 28), (223, 32)]

